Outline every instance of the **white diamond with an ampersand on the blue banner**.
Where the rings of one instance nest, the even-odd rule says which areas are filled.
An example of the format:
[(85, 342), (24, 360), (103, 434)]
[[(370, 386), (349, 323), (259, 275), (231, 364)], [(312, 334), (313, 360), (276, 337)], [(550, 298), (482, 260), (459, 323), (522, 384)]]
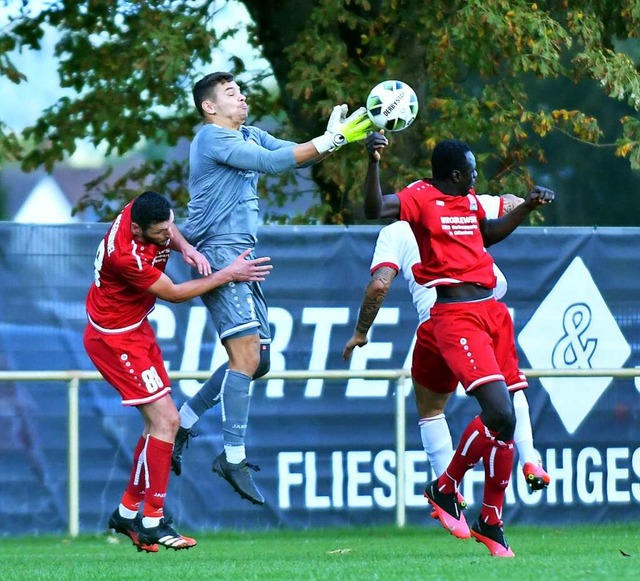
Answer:
[[(616, 369), (631, 354), (589, 270), (575, 258), (542, 301), (518, 343), (534, 369)], [(542, 377), (564, 427), (573, 434), (612, 377)]]

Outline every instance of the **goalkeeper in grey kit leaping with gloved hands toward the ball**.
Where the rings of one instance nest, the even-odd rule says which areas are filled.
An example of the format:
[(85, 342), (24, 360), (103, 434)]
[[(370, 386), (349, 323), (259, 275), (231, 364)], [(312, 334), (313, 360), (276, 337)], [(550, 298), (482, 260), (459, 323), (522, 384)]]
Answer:
[[(247, 102), (233, 75), (212, 73), (193, 88), (204, 125), (190, 150), (189, 217), (184, 235), (209, 260), (214, 271), (246, 248), (255, 248), (258, 230), (258, 178), (314, 163), (338, 147), (364, 139), (373, 129), (364, 107), (346, 117), (347, 106), (334, 107), (327, 131), (296, 144), (250, 125)], [(250, 258), (254, 258), (253, 253)], [(182, 471), (182, 451), (190, 428), (210, 407), (222, 406), (224, 450), (212, 469), (254, 504), (264, 497), (247, 463), (245, 432), (249, 384), (269, 371), (271, 342), (267, 305), (258, 283), (234, 283), (202, 296), (229, 361), (218, 369), (181, 410), (181, 428), (172, 458)]]

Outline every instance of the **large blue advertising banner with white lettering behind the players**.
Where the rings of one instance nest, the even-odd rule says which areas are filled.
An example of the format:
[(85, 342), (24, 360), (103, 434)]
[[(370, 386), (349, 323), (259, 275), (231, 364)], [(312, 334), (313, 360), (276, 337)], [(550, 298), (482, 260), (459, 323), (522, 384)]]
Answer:
[[(84, 298), (105, 224), (0, 224), (0, 370), (92, 370), (82, 347)], [(263, 227), (259, 255), (272, 325), (272, 370), (345, 369), (379, 227)], [(521, 228), (490, 249), (509, 281), (524, 368), (640, 366), (640, 229)], [(167, 270), (190, 277), (179, 255)], [(151, 319), (169, 370), (215, 369), (224, 349), (199, 300), (158, 302)], [(408, 368), (417, 316), (400, 278), (349, 369)], [(197, 392), (176, 381), (180, 405)], [(389, 524), (395, 520), (395, 385), (387, 380), (258, 381), (252, 387), (248, 458), (267, 499), (255, 507), (211, 470), (222, 450), (220, 412), (196, 425), (167, 507), (191, 530)], [(530, 493), (519, 465), (508, 489), (509, 523), (566, 524), (640, 518), (640, 381), (531, 379), (534, 441), (552, 477)], [(80, 390), (80, 525), (105, 530), (131, 467), (139, 414), (105, 382)], [(429, 478), (410, 389), (405, 462), (407, 522), (428, 520)], [(0, 382), (0, 531), (67, 528), (67, 400), (60, 382)], [(456, 393), (447, 407), (454, 442), (477, 413)], [(476, 513), (483, 473), (463, 488)]]

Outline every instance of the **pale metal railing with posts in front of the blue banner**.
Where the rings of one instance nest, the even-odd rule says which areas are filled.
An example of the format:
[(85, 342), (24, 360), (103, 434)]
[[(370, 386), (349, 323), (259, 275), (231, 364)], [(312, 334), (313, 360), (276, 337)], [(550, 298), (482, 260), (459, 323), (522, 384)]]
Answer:
[[(537, 377), (640, 377), (640, 368), (633, 369), (523, 369), (529, 378)], [(170, 371), (172, 380), (207, 380), (211, 371)], [(408, 369), (364, 371), (271, 371), (260, 381), (269, 379), (388, 379), (396, 381), (396, 466), (404, 466), (406, 448), (405, 381), (411, 376)], [(80, 532), (80, 466), (79, 466), (79, 389), (81, 381), (99, 381), (97, 371), (0, 371), (0, 381), (64, 381), (68, 394), (68, 518), (69, 535)], [(396, 525), (406, 522), (404, 470), (396, 470)]]

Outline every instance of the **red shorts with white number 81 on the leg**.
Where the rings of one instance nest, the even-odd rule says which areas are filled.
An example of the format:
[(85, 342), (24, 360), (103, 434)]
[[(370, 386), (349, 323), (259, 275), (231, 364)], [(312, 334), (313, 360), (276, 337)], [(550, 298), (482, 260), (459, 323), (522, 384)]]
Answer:
[(149, 321), (126, 333), (101, 333), (90, 323), (84, 347), (102, 376), (122, 396), (122, 405), (141, 405), (171, 392), (162, 351)]

